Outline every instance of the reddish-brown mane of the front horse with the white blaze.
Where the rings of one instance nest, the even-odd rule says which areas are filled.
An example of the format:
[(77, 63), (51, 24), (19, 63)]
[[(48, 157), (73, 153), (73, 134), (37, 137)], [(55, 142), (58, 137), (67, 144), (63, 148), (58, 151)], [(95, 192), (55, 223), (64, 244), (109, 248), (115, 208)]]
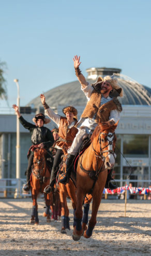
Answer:
[(94, 138), (100, 133), (100, 132), (103, 132), (103, 131), (108, 131), (110, 130), (110, 132), (114, 132), (116, 127), (117, 127), (117, 124), (114, 124), (112, 126), (110, 126), (108, 123), (100, 123), (97, 125), (97, 127), (95, 128), (93, 134), (92, 134), (92, 137), (90, 138), (91, 141), (94, 140)]

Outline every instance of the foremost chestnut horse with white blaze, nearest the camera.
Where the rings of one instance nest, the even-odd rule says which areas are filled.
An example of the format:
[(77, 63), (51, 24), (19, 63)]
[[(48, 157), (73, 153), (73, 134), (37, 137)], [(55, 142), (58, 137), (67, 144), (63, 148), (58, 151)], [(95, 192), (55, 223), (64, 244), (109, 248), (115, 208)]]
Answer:
[[(108, 124), (98, 124), (92, 134), (90, 145), (83, 154), (79, 155), (77, 165), (77, 208), (74, 211), (73, 240), (79, 240), (82, 235), (85, 238), (92, 236), (97, 222), (96, 217), (102, 192), (107, 181), (108, 169), (113, 168), (115, 163), (116, 127), (117, 123), (112, 127)], [(88, 204), (84, 215), (82, 210), (83, 199), (87, 193), (92, 195), (91, 200), (93, 198), (92, 215), (88, 228), (86, 226), (86, 222), (88, 222)], [(82, 220), (82, 217), (85, 220)]]

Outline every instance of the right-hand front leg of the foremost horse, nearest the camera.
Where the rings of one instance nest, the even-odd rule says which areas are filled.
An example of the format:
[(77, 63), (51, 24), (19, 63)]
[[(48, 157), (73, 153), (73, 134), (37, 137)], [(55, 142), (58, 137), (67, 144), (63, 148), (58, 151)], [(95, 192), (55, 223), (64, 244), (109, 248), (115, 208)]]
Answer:
[(89, 238), (92, 236), (93, 229), (97, 223), (97, 213), (98, 213), (98, 208), (101, 202), (101, 196), (102, 193), (99, 191), (98, 193), (95, 193), (95, 197), (93, 198), (92, 202), (92, 215), (88, 223), (88, 229), (84, 231), (83, 236), (85, 238)]

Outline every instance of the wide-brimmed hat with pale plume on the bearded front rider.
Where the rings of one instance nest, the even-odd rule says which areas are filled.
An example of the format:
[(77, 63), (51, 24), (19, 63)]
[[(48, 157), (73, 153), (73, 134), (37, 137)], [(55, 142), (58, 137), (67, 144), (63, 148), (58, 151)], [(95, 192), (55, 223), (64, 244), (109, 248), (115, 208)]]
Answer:
[(96, 88), (96, 90), (100, 89), (103, 82), (108, 82), (111, 84), (113, 91), (110, 92), (110, 96), (112, 97), (123, 97), (123, 89), (118, 85), (118, 80), (116, 78), (112, 78), (110, 76), (106, 77), (99, 77), (95, 84), (93, 84), (93, 87)]

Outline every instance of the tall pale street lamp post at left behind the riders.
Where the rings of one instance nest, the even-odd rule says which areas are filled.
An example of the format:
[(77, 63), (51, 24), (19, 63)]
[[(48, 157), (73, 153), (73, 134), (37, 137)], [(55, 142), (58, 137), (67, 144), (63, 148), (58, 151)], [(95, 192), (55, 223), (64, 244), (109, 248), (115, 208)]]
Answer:
[[(13, 82), (17, 85), (17, 106), (19, 107), (20, 111), (20, 87), (19, 87), (19, 80), (14, 79)], [(17, 143), (16, 143), (16, 178), (18, 179), (18, 191), (16, 197), (20, 198), (20, 178), (21, 178), (21, 162), (20, 162), (20, 122), (19, 118), (17, 117)]]

